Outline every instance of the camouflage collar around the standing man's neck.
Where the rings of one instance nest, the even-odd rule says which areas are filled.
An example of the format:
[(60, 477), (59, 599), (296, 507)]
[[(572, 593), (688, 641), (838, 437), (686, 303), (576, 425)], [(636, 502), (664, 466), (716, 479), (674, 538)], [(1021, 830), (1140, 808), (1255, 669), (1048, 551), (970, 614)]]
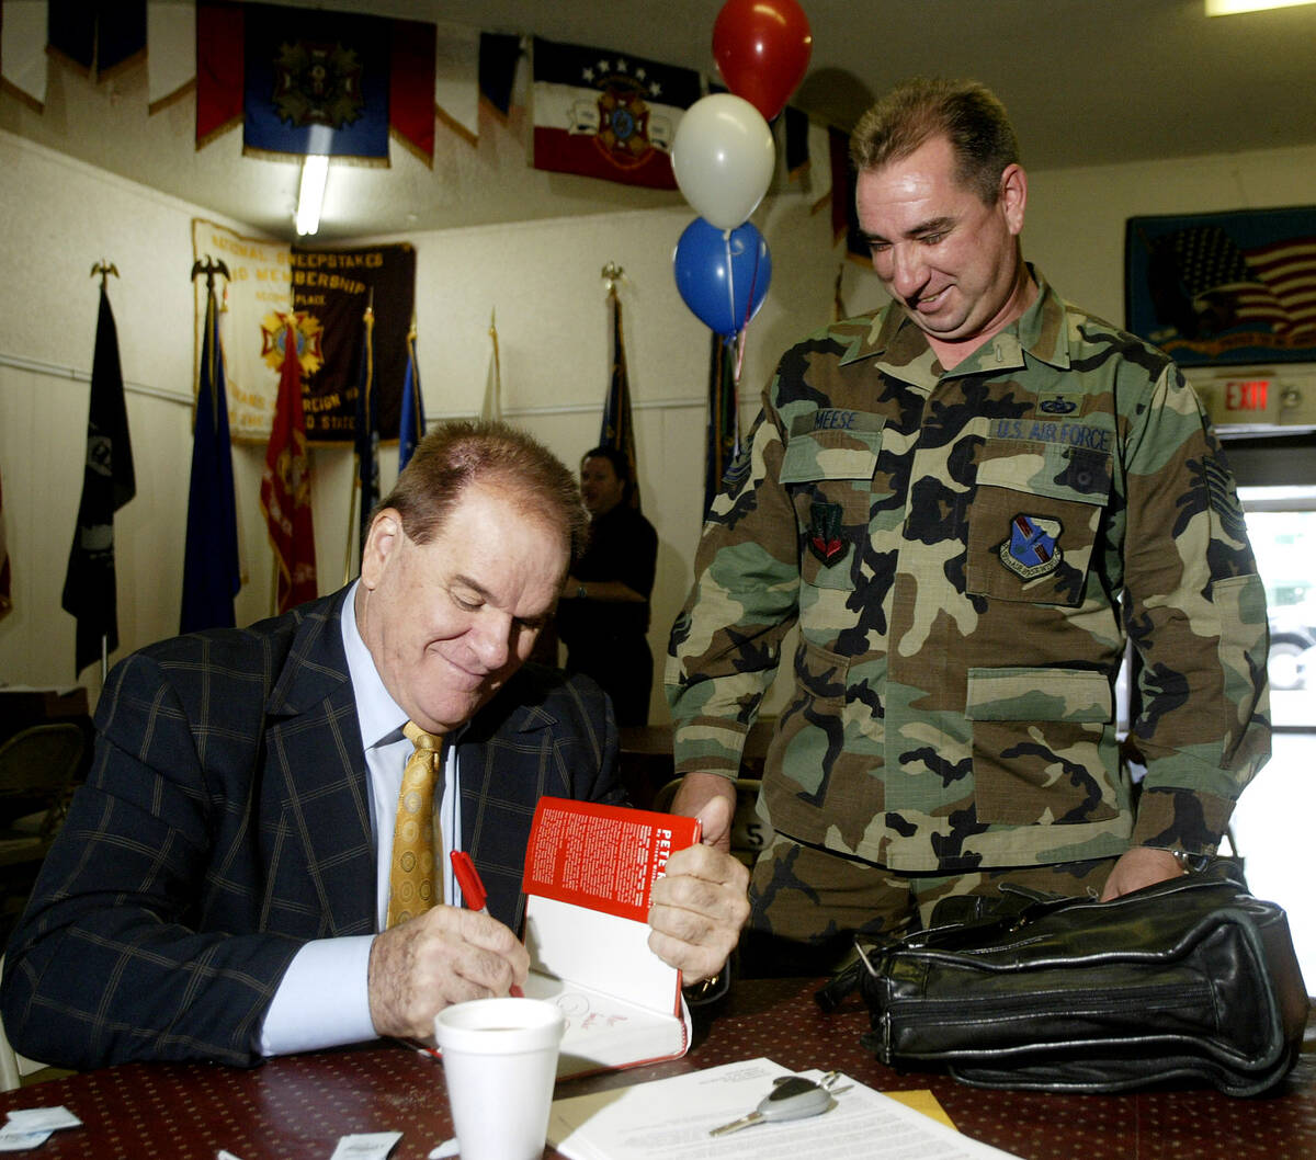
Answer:
[[(1037, 297), (1012, 325), (984, 343), (953, 374), (975, 371), (995, 374), (1025, 364), (1025, 354), (1065, 371), (1070, 366), (1069, 325), (1065, 302), (1048, 284), (1037, 267), (1029, 264), (1029, 274), (1037, 283)], [(851, 329), (854, 339), (841, 356), (841, 366), (861, 359), (883, 356), (882, 370), (916, 387), (932, 389), (942, 371), (923, 331), (909, 321), (904, 310), (894, 304), (875, 314), (840, 324)], [(862, 327), (862, 329), (861, 329)]]

